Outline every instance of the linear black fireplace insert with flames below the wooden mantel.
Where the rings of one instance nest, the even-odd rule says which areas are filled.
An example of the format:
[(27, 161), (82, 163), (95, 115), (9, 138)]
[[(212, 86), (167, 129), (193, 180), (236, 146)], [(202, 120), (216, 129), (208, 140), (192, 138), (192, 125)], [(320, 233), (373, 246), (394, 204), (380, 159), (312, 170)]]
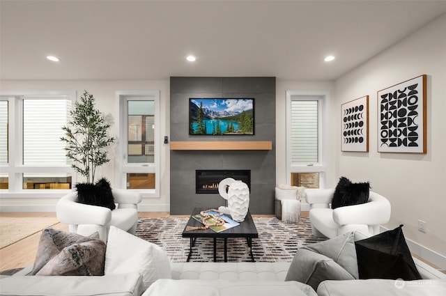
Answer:
[(241, 180), (251, 189), (250, 170), (197, 170), (195, 171), (195, 193), (218, 194), (218, 185), (225, 178)]

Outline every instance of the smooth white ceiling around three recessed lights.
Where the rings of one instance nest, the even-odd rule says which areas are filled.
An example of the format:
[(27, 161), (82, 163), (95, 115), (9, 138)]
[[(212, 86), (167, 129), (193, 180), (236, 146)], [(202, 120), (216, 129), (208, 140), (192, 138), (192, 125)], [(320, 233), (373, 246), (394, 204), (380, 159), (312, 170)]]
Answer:
[(0, 13), (2, 80), (334, 80), (446, 13), (446, 0), (0, 0)]

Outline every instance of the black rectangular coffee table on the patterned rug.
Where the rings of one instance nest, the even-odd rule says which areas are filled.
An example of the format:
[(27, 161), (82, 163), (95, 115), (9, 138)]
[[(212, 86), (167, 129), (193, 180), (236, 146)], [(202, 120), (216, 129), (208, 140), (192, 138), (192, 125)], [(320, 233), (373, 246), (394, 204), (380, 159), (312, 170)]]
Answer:
[(224, 262), (227, 262), (227, 240), (231, 237), (244, 237), (247, 240), (247, 244), (249, 247), (249, 255), (251, 256), (252, 262), (254, 262), (254, 255), (252, 254), (252, 239), (259, 237), (259, 233), (257, 233), (256, 224), (254, 224), (254, 221), (252, 220), (251, 214), (248, 212), (245, 221), (240, 222), (240, 225), (229, 228), (225, 231), (222, 231), (220, 233), (216, 233), (212, 229), (206, 229), (206, 230), (194, 230), (194, 231), (186, 231), (187, 226), (203, 226), (199, 221), (192, 218), (193, 215), (199, 214), (202, 210), (202, 208), (194, 208), (194, 211), (192, 212), (191, 217), (189, 218), (189, 221), (187, 221), (187, 224), (183, 230), (183, 237), (189, 237), (190, 238), (190, 249), (189, 249), (189, 255), (187, 256), (187, 261), (190, 260), (190, 256), (192, 255), (192, 247), (194, 247), (195, 240), (199, 237), (213, 237), (214, 240), (214, 262), (217, 260), (217, 238), (222, 238), (224, 240)]

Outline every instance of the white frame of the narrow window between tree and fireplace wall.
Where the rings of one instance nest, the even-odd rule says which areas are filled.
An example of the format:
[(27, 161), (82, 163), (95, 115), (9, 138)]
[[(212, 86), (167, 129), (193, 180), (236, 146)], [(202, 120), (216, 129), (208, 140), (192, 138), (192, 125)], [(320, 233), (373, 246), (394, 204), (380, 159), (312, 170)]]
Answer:
[[(154, 131), (154, 162), (153, 163), (127, 163), (127, 102), (129, 100), (153, 100), (155, 102), (155, 131)], [(118, 114), (118, 157), (115, 184), (123, 189), (127, 188), (127, 173), (155, 173), (155, 189), (130, 189), (141, 192), (143, 198), (160, 198), (161, 177), (161, 137), (160, 137), (160, 91), (116, 91), (116, 114)]]

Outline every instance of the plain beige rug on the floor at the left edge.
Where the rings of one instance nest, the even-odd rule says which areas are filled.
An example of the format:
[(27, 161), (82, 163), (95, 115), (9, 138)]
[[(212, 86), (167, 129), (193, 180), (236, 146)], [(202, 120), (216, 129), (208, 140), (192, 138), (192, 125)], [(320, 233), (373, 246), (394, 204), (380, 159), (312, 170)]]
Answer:
[(58, 223), (55, 217), (0, 217), (0, 249)]

